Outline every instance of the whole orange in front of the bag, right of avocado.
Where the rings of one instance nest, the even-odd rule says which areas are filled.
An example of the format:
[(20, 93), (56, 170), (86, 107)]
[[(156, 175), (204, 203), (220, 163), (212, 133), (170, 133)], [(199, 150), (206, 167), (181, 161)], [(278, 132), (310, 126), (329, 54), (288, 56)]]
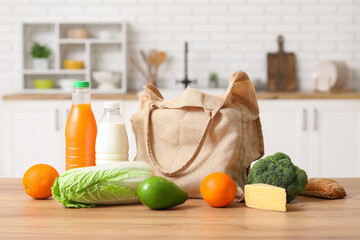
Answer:
[(225, 207), (235, 199), (236, 184), (229, 175), (215, 172), (202, 180), (200, 192), (210, 206)]

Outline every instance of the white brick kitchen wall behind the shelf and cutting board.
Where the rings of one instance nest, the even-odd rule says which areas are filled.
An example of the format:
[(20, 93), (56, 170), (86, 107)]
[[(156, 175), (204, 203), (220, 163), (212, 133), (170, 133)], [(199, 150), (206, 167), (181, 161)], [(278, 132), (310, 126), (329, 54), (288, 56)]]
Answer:
[[(184, 41), (198, 87), (208, 86), (211, 72), (226, 87), (238, 69), (265, 83), (266, 54), (277, 51), (283, 34), (285, 51), (296, 54), (299, 90), (313, 91), (312, 72), (322, 60), (345, 61), (349, 85), (360, 89), (360, 0), (0, 0), (0, 97), (21, 89), (21, 23), (122, 20), (128, 55), (167, 52), (160, 88), (183, 87), (175, 80), (184, 77)], [(130, 61), (127, 76), (128, 91), (141, 90), (144, 79)]]

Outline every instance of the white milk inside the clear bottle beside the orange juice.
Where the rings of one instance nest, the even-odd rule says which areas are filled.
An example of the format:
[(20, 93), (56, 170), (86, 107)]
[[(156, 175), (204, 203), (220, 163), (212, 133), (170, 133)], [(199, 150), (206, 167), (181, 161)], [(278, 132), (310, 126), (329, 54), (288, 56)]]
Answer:
[(129, 141), (123, 122), (100, 123), (95, 152), (96, 165), (128, 161)]

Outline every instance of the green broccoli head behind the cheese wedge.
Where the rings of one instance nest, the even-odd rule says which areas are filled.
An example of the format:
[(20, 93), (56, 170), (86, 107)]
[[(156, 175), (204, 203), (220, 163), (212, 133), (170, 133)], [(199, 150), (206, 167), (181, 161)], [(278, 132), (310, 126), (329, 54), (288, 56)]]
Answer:
[(286, 201), (291, 202), (304, 191), (307, 184), (306, 172), (295, 166), (288, 155), (275, 153), (254, 164), (248, 182), (265, 183), (286, 189)]

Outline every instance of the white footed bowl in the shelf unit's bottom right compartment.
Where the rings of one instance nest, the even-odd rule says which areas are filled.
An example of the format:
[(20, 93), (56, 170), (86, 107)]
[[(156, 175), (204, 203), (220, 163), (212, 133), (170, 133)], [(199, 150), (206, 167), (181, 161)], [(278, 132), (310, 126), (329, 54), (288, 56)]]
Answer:
[(120, 72), (94, 71), (92, 73), (94, 81), (98, 84), (98, 89), (108, 90), (116, 89), (116, 85), (121, 80)]

